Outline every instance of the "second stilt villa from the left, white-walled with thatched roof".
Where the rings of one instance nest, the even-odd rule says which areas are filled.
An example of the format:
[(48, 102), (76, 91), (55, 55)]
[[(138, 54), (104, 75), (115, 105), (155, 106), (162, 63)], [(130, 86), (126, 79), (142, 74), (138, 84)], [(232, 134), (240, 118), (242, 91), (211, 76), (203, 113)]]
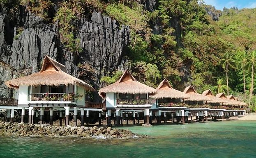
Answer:
[[(111, 110), (116, 111), (117, 119), (122, 115), (122, 110), (127, 112), (144, 111), (145, 123), (148, 122), (149, 109), (152, 103), (149, 101), (149, 95), (157, 94), (157, 90), (146, 86), (132, 76), (129, 70), (125, 70), (120, 79), (115, 83), (99, 90), (99, 95), (106, 98), (106, 110), (108, 111), (108, 124), (110, 124)], [(117, 121), (119, 124), (120, 121)]]

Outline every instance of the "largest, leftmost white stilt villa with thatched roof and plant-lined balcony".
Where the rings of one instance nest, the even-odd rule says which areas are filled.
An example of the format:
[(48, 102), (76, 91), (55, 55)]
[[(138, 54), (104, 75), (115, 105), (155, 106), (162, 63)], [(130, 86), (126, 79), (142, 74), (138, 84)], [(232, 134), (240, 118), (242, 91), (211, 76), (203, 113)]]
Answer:
[[(65, 111), (66, 125), (69, 124), (69, 110), (74, 111), (76, 126), (77, 111), (80, 110), (81, 116), (84, 115), (86, 90), (95, 91), (89, 84), (67, 74), (64, 65), (48, 56), (45, 56), (39, 72), (6, 81), (5, 84), (9, 88), (19, 89), (18, 106), (29, 108), (28, 123), (33, 123), (36, 111), (40, 111), (40, 121), (43, 123), (46, 110), (50, 111), (52, 124), (53, 110), (58, 109), (60, 116)], [(25, 109), (21, 115), (25, 115)]]

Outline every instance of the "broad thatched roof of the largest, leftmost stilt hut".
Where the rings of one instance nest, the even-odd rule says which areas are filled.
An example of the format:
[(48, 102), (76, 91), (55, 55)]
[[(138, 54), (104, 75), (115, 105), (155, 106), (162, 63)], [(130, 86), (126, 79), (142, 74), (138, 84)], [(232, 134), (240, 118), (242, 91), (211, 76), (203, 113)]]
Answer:
[(6, 81), (5, 84), (9, 88), (19, 88), (19, 86), (59, 86), (62, 84), (65, 85), (78, 85), (86, 90), (95, 91), (92, 86), (67, 74), (67, 70), (64, 65), (58, 63), (57, 61), (51, 59), (48, 56), (45, 56), (42, 69), (34, 74), (30, 74), (25, 77), (20, 77), (17, 79), (12, 79)]

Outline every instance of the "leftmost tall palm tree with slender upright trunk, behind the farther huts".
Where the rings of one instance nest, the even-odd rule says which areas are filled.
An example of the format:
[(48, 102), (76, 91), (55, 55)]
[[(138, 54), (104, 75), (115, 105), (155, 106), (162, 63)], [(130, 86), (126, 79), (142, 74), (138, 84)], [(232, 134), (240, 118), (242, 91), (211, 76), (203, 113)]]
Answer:
[(230, 53), (230, 52), (226, 52), (224, 54), (224, 59), (222, 59), (220, 61), (222, 63), (222, 68), (224, 70), (226, 69), (227, 95), (229, 95), (229, 92), (228, 92), (228, 66), (233, 68), (233, 69), (236, 69), (236, 67), (235, 67), (236, 62), (235, 62), (234, 57), (235, 57), (235, 54)]

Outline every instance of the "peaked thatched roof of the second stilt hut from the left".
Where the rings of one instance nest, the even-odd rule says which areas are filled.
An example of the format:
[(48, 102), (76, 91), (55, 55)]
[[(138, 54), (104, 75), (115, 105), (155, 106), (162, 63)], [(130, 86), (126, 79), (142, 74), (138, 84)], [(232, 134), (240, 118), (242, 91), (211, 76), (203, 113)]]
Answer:
[(157, 93), (157, 90), (142, 84), (131, 75), (129, 70), (125, 70), (124, 74), (122, 74), (121, 78), (104, 88), (99, 90), (99, 95), (102, 98), (106, 97), (106, 93), (123, 93), (123, 94), (145, 94), (149, 93), (150, 95), (154, 95)]

